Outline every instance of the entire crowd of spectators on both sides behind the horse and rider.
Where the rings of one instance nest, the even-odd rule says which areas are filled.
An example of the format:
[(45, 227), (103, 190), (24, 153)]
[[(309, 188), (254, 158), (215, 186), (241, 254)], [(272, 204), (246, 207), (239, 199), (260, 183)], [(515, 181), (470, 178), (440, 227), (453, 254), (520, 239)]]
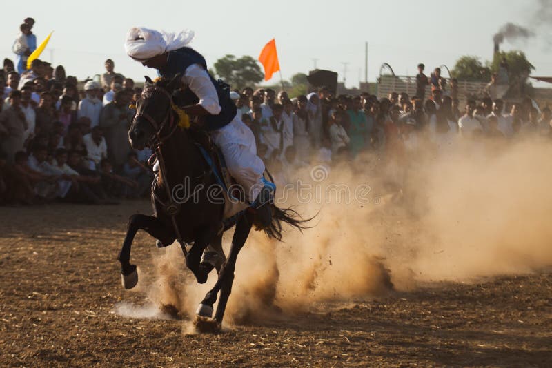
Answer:
[[(81, 90), (61, 65), (34, 59), (26, 70), (36, 48), (32, 25), (30, 18), (21, 25), (17, 62), (4, 59), (0, 72), (0, 205), (148, 196), (152, 152), (132, 150), (127, 135), (130, 105), (141, 89), (115, 72), (110, 59), (99, 81), (85, 81)], [(416, 96), (334, 96), (325, 87), (294, 98), (270, 88), (230, 96), (255, 135), (257, 153), (281, 181), (298, 167), (355, 160), (363, 152), (400, 163), (422, 148), (439, 154), (462, 140), (507, 145), (521, 136), (551, 136), (548, 108), (489, 94), (466, 101), (461, 111), (455, 80), (442, 78), (438, 68), (430, 76), (423, 64), (418, 69)]]

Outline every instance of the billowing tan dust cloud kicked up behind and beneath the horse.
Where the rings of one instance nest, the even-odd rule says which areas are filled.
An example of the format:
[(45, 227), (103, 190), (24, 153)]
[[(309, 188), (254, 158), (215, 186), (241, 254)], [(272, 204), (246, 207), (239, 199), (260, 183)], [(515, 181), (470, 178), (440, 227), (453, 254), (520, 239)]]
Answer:
[[(306, 217), (319, 212), (313, 228), (290, 230), (284, 243), (252, 232), (237, 261), (226, 323), (551, 265), (551, 158), (548, 141), (475, 142), (418, 152), (405, 159), (406, 170), (366, 155), (334, 165), (322, 181), (311, 167), (295, 172), (300, 185), (311, 185), (311, 201), (299, 199), (296, 185), (279, 206), (295, 205)], [(141, 279), (148, 298), (193, 316), (216, 274), (197, 285), (179, 247), (158, 252), (156, 274)]]

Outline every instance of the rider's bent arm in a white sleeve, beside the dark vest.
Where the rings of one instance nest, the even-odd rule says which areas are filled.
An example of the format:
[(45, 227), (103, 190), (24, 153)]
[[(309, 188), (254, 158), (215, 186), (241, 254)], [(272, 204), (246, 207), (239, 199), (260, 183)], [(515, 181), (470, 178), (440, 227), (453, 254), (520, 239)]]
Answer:
[(197, 64), (190, 65), (182, 76), (182, 83), (188, 85), (188, 88), (199, 98), (199, 103), (184, 108), (187, 114), (218, 115), (220, 113), (217, 90), (204, 68)]

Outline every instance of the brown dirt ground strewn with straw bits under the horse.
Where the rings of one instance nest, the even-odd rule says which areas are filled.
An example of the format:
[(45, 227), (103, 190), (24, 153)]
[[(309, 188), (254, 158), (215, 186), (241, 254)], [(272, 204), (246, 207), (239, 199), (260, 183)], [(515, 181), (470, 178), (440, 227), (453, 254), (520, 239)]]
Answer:
[[(120, 316), (126, 220), (149, 203), (0, 208), (0, 366), (552, 366), (552, 273), (428, 283), (219, 334)], [(147, 269), (154, 242), (132, 259)], [(184, 272), (184, 270), (183, 270)], [(199, 302), (199, 300), (198, 300)]]

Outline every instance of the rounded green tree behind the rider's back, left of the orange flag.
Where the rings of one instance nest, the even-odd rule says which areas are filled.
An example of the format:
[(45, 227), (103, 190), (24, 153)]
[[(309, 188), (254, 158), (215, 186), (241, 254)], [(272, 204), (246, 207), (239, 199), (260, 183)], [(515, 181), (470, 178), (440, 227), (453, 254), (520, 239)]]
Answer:
[(242, 90), (263, 80), (264, 73), (253, 57), (243, 56), (236, 59), (234, 55), (226, 55), (213, 65), (220, 79), (232, 89)]

